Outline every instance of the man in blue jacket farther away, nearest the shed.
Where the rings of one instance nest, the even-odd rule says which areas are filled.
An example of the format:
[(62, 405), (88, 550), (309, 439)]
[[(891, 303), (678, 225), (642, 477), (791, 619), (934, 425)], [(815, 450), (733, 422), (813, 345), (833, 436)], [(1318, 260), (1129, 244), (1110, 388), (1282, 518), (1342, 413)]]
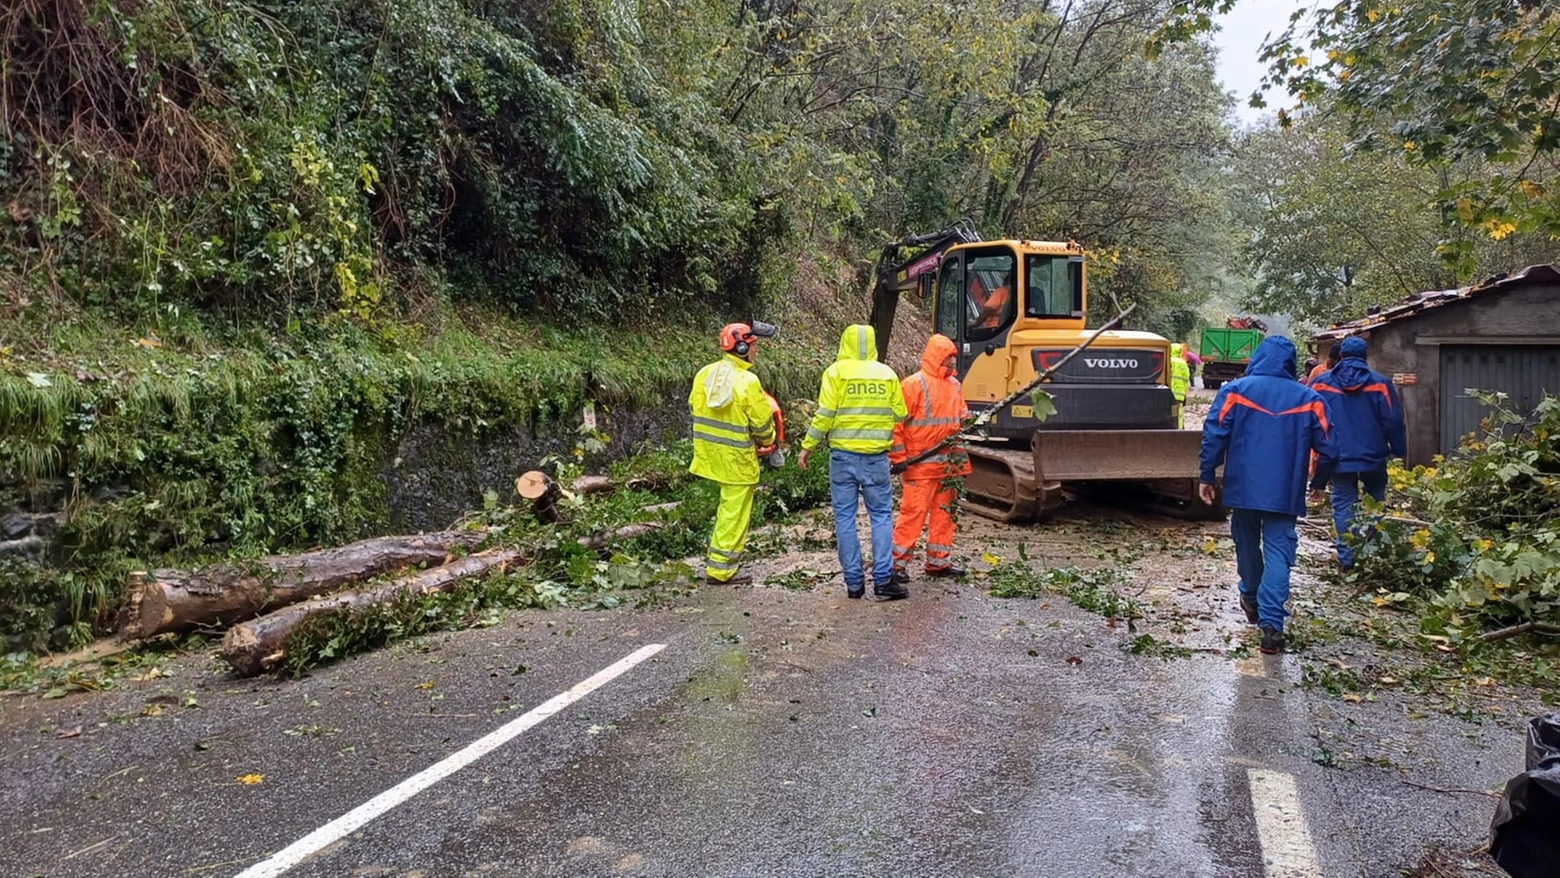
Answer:
[(1310, 384), (1321, 395), (1338, 443), (1338, 469), (1332, 474), (1332, 524), (1337, 527), (1338, 566), (1354, 566), (1354, 549), (1343, 535), (1354, 522), (1360, 485), (1376, 502), (1387, 499), (1387, 462), (1402, 457), (1407, 444), (1398, 388), (1365, 365), (1365, 340), (1345, 338), (1343, 359)]

